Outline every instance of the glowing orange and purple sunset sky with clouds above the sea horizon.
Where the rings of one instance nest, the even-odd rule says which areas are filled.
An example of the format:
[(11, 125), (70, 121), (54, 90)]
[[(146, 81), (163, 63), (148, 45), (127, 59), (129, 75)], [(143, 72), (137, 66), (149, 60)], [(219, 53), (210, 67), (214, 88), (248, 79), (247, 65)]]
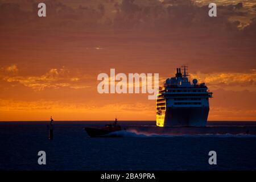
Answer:
[[(100, 73), (188, 65), (210, 121), (256, 121), (256, 1), (0, 0), (0, 121), (155, 120), (147, 94), (100, 94)], [(217, 17), (208, 4), (217, 4)]]

